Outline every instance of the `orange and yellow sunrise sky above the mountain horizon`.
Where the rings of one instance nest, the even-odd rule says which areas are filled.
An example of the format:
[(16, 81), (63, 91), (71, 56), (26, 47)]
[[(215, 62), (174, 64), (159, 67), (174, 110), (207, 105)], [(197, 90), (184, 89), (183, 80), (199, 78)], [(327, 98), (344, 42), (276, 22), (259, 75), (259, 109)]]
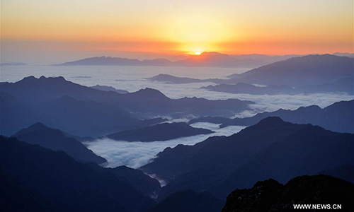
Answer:
[(1, 61), (353, 53), (353, 0), (1, 0)]

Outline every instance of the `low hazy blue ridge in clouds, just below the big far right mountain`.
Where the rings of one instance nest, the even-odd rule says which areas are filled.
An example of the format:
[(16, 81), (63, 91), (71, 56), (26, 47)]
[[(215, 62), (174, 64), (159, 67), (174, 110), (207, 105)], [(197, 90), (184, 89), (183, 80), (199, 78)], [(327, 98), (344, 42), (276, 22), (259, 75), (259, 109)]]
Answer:
[(236, 83), (235, 85), (216, 85), (206, 86), (202, 89), (224, 92), (224, 93), (247, 93), (252, 95), (277, 95), (277, 94), (295, 94), (296, 91), (290, 86), (269, 85), (265, 87), (253, 86), (247, 83)]

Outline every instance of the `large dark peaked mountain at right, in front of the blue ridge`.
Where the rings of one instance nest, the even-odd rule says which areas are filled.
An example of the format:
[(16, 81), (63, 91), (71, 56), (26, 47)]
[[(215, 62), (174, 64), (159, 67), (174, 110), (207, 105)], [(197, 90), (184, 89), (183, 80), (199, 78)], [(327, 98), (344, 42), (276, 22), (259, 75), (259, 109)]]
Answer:
[(224, 199), (232, 189), (251, 187), (259, 180), (286, 182), (354, 163), (353, 141), (354, 134), (268, 117), (232, 136), (166, 148), (140, 169), (169, 182), (159, 199), (185, 189)]

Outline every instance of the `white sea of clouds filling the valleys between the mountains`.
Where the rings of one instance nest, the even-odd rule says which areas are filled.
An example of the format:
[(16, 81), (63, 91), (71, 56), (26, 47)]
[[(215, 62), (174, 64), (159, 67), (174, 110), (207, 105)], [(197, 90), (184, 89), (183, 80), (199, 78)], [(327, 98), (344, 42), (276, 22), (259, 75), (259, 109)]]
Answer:
[[(209, 100), (226, 100), (238, 98), (251, 100), (255, 104), (234, 117), (251, 117), (258, 112), (272, 112), (280, 108), (295, 110), (298, 107), (319, 105), (326, 107), (341, 100), (353, 100), (353, 95), (346, 93), (316, 93), (299, 95), (249, 95), (214, 92), (200, 89), (202, 86), (215, 85), (214, 83), (189, 83), (173, 84), (147, 81), (144, 78), (156, 76), (159, 73), (189, 78), (226, 78), (232, 73), (242, 73), (248, 69), (222, 69), (222, 68), (188, 68), (188, 67), (156, 67), (156, 66), (4, 66), (1, 67), (0, 81), (16, 82), (26, 76), (64, 76), (68, 81), (79, 83), (83, 86), (112, 86), (113, 88), (135, 92), (142, 88), (155, 88), (169, 98), (198, 97)], [(173, 119), (169, 122), (188, 122), (194, 117)], [(171, 119), (171, 118), (170, 118)], [(194, 145), (204, 141), (209, 136), (229, 136), (243, 129), (243, 126), (229, 126), (219, 129), (217, 124), (196, 123), (193, 126), (212, 129), (215, 134), (190, 136), (170, 141), (154, 142), (125, 142), (111, 139), (97, 139), (86, 142), (94, 153), (108, 160), (106, 166), (116, 167), (127, 165), (129, 167), (141, 167), (149, 163), (157, 153), (164, 151), (166, 147), (174, 147), (178, 144)]]

